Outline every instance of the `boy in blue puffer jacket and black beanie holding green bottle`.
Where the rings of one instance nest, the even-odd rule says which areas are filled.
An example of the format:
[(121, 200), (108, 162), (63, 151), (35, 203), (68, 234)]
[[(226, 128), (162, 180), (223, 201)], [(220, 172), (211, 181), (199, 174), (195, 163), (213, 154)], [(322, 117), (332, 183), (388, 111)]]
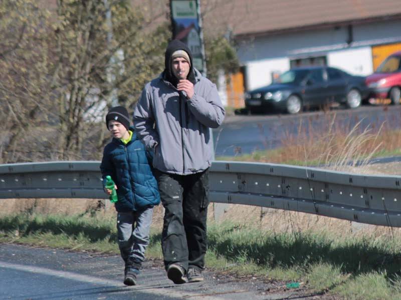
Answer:
[[(113, 139), (104, 147), (100, 170), (103, 187), (107, 175), (115, 182), (118, 246), (125, 261), (124, 284), (135, 285), (149, 244), (153, 206), (159, 204), (160, 195), (150, 167), (151, 156), (129, 124), (125, 107), (115, 106), (107, 113), (106, 125)], [(112, 192), (105, 187), (104, 190), (108, 195)]]

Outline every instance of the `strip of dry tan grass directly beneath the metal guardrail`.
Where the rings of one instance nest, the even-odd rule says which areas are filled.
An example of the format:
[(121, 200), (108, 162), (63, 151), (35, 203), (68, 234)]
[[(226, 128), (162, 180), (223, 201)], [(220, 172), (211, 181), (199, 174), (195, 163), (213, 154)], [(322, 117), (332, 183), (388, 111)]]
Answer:
[[(104, 207), (98, 208), (97, 204), (97, 199), (7, 199), (0, 201), (0, 215), (23, 211), (65, 215), (90, 214), (96, 211), (97, 215), (106, 218), (116, 216), (116, 211), (111, 205), (104, 209)], [(219, 204), (212, 203), (209, 206), (209, 221), (214, 221), (215, 205)], [(154, 208), (153, 228), (161, 230), (163, 214), (162, 205)], [(242, 204), (227, 205), (224, 214), (217, 221), (223, 222), (225, 220), (235, 220), (238, 224), (251, 225), (277, 233), (326, 231), (339, 236), (368, 234), (369, 236), (379, 237), (384, 234), (401, 237), (401, 228), (361, 224), (315, 214)]]

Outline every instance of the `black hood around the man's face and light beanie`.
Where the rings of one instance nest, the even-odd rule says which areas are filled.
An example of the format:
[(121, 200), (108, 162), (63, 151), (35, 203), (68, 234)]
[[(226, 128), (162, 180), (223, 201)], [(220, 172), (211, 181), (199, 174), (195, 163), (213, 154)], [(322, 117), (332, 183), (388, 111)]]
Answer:
[(189, 63), (190, 63), (190, 68), (189, 68), (189, 73), (186, 79), (191, 81), (193, 84), (195, 84), (195, 73), (193, 71), (193, 62), (192, 62), (192, 53), (191, 50), (184, 44), (182, 41), (178, 39), (173, 39), (171, 40), (166, 48), (166, 51), (164, 53), (164, 72), (163, 76), (164, 79), (167, 81), (171, 82), (174, 86), (177, 86), (178, 79), (173, 75), (172, 70), (171, 70), (171, 55), (174, 53), (176, 50), (184, 50), (186, 53), (188, 53), (189, 56)]

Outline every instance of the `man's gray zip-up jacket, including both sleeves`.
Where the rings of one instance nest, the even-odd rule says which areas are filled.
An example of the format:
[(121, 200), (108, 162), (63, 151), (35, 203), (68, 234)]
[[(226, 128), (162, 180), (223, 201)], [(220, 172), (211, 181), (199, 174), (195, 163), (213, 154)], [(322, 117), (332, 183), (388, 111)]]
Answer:
[(220, 126), (225, 111), (216, 85), (194, 72), (192, 98), (160, 75), (145, 85), (134, 111), (135, 130), (154, 149), (153, 166), (162, 172), (192, 174), (212, 163), (210, 128)]

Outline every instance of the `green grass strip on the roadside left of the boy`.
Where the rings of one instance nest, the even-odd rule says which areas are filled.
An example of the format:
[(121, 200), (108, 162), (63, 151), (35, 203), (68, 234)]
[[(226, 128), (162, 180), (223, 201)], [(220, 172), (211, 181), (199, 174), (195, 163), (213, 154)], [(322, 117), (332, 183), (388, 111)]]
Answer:
[(115, 227), (100, 217), (21, 213), (0, 218), (0, 240), (117, 253)]

